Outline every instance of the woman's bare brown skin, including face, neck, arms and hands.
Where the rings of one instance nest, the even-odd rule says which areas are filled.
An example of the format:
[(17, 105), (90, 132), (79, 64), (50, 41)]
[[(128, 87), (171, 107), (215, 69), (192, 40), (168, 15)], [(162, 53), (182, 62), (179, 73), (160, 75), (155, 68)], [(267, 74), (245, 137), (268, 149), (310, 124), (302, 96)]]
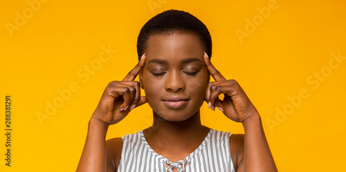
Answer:
[[(154, 117), (153, 126), (143, 131), (148, 144), (171, 162), (185, 159), (210, 130), (201, 124), (199, 108), (204, 101), (213, 111), (217, 107), (244, 126), (245, 135), (230, 137), (236, 171), (277, 171), (255, 106), (235, 80), (227, 80), (218, 72), (204, 51), (199, 37), (190, 32), (152, 35), (134, 69), (104, 90), (89, 121), (77, 171), (116, 171), (122, 140), (105, 142), (107, 129), (145, 103)], [(140, 82), (134, 81), (137, 75)], [(210, 75), (215, 82), (209, 82)], [(140, 96), (140, 88), (146, 96)], [(218, 98), (221, 94), (222, 100)], [(172, 97), (178, 97), (179, 103)]]

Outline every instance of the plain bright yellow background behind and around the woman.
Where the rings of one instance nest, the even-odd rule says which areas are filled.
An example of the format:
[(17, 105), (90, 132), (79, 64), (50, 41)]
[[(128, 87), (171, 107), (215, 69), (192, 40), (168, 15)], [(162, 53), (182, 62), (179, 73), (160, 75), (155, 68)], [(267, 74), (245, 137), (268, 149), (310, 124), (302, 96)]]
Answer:
[[(12, 95), (12, 163), (4, 165), (1, 134), (0, 171), (75, 171), (104, 88), (136, 64), (136, 38), (143, 24), (171, 8), (206, 23), (212, 62), (241, 84), (260, 111), (279, 171), (345, 169), (346, 1), (277, 0), (276, 9), (262, 18), (257, 8), (267, 9), (275, 1), (42, 0), (33, 7), (28, 2), (0, 4), (0, 133), (5, 132), (5, 95)], [(247, 20), (257, 23), (248, 26), (250, 32)], [(239, 39), (239, 30), (248, 35)], [(104, 62), (98, 59), (107, 57), (102, 46), (113, 50)], [(338, 62), (331, 53), (344, 59)], [(92, 74), (85, 66), (91, 66)], [(47, 115), (46, 103), (61, 100), (58, 90), (66, 91), (69, 84), (78, 90)], [(297, 98), (300, 91), (306, 92), (301, 101), (290, 102), (287, 97)], [(284, 115), (277, 115), (277, 109)], [(206, 104), (201, 111), (207, 126), (244, 132), (241, 124)], [(39, 113), (50, 118), (40, 123)], [(148, 105), (136, 108), (109, 128), (107, 138), (140, 131), (151, 116)]]

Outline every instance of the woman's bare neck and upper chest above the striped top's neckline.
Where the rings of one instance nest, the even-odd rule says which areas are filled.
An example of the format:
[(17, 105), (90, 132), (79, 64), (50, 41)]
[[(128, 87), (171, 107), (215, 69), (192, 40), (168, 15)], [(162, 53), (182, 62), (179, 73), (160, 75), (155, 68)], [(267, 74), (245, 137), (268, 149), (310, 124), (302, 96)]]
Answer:
[(176, 162), (197, 149), (209, 130), (202, 126), (199, 111), (182, 122), (170, 122), (154, 113), (153, 126), (145, 129), (143, 134), (156, 153)]

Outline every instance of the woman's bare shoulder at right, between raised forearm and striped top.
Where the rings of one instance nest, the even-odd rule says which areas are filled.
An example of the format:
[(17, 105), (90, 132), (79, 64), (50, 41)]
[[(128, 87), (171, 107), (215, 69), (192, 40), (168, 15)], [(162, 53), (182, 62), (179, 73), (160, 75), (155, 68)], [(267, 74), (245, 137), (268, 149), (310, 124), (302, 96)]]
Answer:
[(236, 171), (238, 168), (243, 168), (244, 134), (233, 134), (230, 136), (230, 156)]

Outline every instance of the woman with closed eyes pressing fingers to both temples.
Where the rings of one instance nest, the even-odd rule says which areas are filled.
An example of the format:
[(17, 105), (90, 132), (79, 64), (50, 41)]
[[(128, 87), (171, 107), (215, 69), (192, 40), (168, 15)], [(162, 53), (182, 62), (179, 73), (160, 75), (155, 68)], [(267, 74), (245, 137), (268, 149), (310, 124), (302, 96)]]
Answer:
[[(140, 30), (137, 50), (138, 64), (104, 90), (77, 171), (277, 171), (259, 113), (239, 84), (210, 63), (210, 33), (199, 19), (179, 10), (156, 15)], [(242, 122), (245, 134), (203, 126), (204, 101)], [(145, 103), (153, 126), (105, 141), (111, 124)]]

